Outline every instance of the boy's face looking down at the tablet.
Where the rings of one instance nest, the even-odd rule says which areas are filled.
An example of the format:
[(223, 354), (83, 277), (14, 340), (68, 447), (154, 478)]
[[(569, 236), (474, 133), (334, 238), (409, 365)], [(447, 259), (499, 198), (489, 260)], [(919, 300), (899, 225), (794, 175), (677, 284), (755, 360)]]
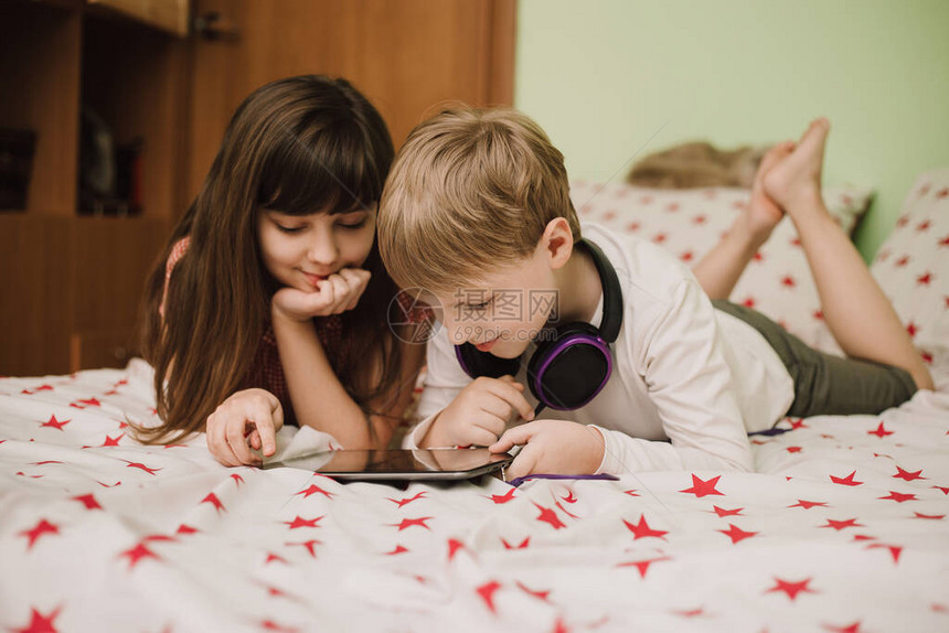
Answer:
[(450, 341), (471, 343), (501, 358), (520, 356), (558, 305), (554, 271), (544, 250), (492, 270), (476, 282), (438, 294)]

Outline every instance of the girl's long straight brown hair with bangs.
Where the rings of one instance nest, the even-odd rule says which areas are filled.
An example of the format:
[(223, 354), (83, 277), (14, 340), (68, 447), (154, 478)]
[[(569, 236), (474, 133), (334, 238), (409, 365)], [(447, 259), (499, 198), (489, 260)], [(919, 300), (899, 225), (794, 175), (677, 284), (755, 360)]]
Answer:
[[(250, 368), (277, 289), (260, 259), (259, 210), (306, 215), (375, 204), (393, 154), (382, 117), (344, 79), (290, 77), (241, 104), (146, 286), (142, 351), (154, 367), (163, 423), (137, 429), (142, 441), (173, 442), (201, 431)], [(166, 261), (184, 237), (191, 242), (172, 271), (162, 319)], [(375, 242), (363, 267), (372, 277), (356, 308), (343, 314), (349, 353), (333, 368), (371, 412), (367, 403), (397, 386), (402, 350), (387, 325), (397, 288)]]

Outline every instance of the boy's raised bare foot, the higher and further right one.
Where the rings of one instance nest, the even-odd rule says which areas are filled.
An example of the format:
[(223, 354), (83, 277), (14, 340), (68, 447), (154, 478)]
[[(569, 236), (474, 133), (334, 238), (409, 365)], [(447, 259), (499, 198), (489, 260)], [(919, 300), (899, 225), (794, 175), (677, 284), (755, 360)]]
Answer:
[(765, 173), (765, 193), (791, 216), (796, 208), (802, 205), (810, 207), (814, 200), (821, 200), (821, 171), (828, 132), (830, 121), (814, 119), (790, 155)]

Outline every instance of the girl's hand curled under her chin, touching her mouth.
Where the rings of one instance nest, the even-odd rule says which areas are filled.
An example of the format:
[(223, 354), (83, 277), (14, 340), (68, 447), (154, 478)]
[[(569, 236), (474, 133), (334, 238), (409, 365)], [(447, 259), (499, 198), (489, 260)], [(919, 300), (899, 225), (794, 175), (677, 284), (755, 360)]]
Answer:
[(319, 282), (312, 292), (281, 288), (274, 294), (275, 315), (292, 321), (309, 321), (352, 310), (369, 285), (371, 273), (361, 268), (343, 268)]

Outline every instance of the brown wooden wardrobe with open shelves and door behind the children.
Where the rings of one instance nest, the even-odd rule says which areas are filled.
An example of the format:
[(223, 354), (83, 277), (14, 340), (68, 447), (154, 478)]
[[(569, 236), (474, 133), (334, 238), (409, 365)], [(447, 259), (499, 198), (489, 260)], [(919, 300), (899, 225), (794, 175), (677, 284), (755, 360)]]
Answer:
[[(145, 277), (254, 88), (346, 77), (398, 147), (447, 103), (513, 103), (515, 12), (515, 0), (0, 0), (0, 128), (36, 133), (26, 207), (0, 210), (0, 375), (135, 354)], [(79, 211), (83, 108), (116, 143), (140, 143), (137, 213)]]

